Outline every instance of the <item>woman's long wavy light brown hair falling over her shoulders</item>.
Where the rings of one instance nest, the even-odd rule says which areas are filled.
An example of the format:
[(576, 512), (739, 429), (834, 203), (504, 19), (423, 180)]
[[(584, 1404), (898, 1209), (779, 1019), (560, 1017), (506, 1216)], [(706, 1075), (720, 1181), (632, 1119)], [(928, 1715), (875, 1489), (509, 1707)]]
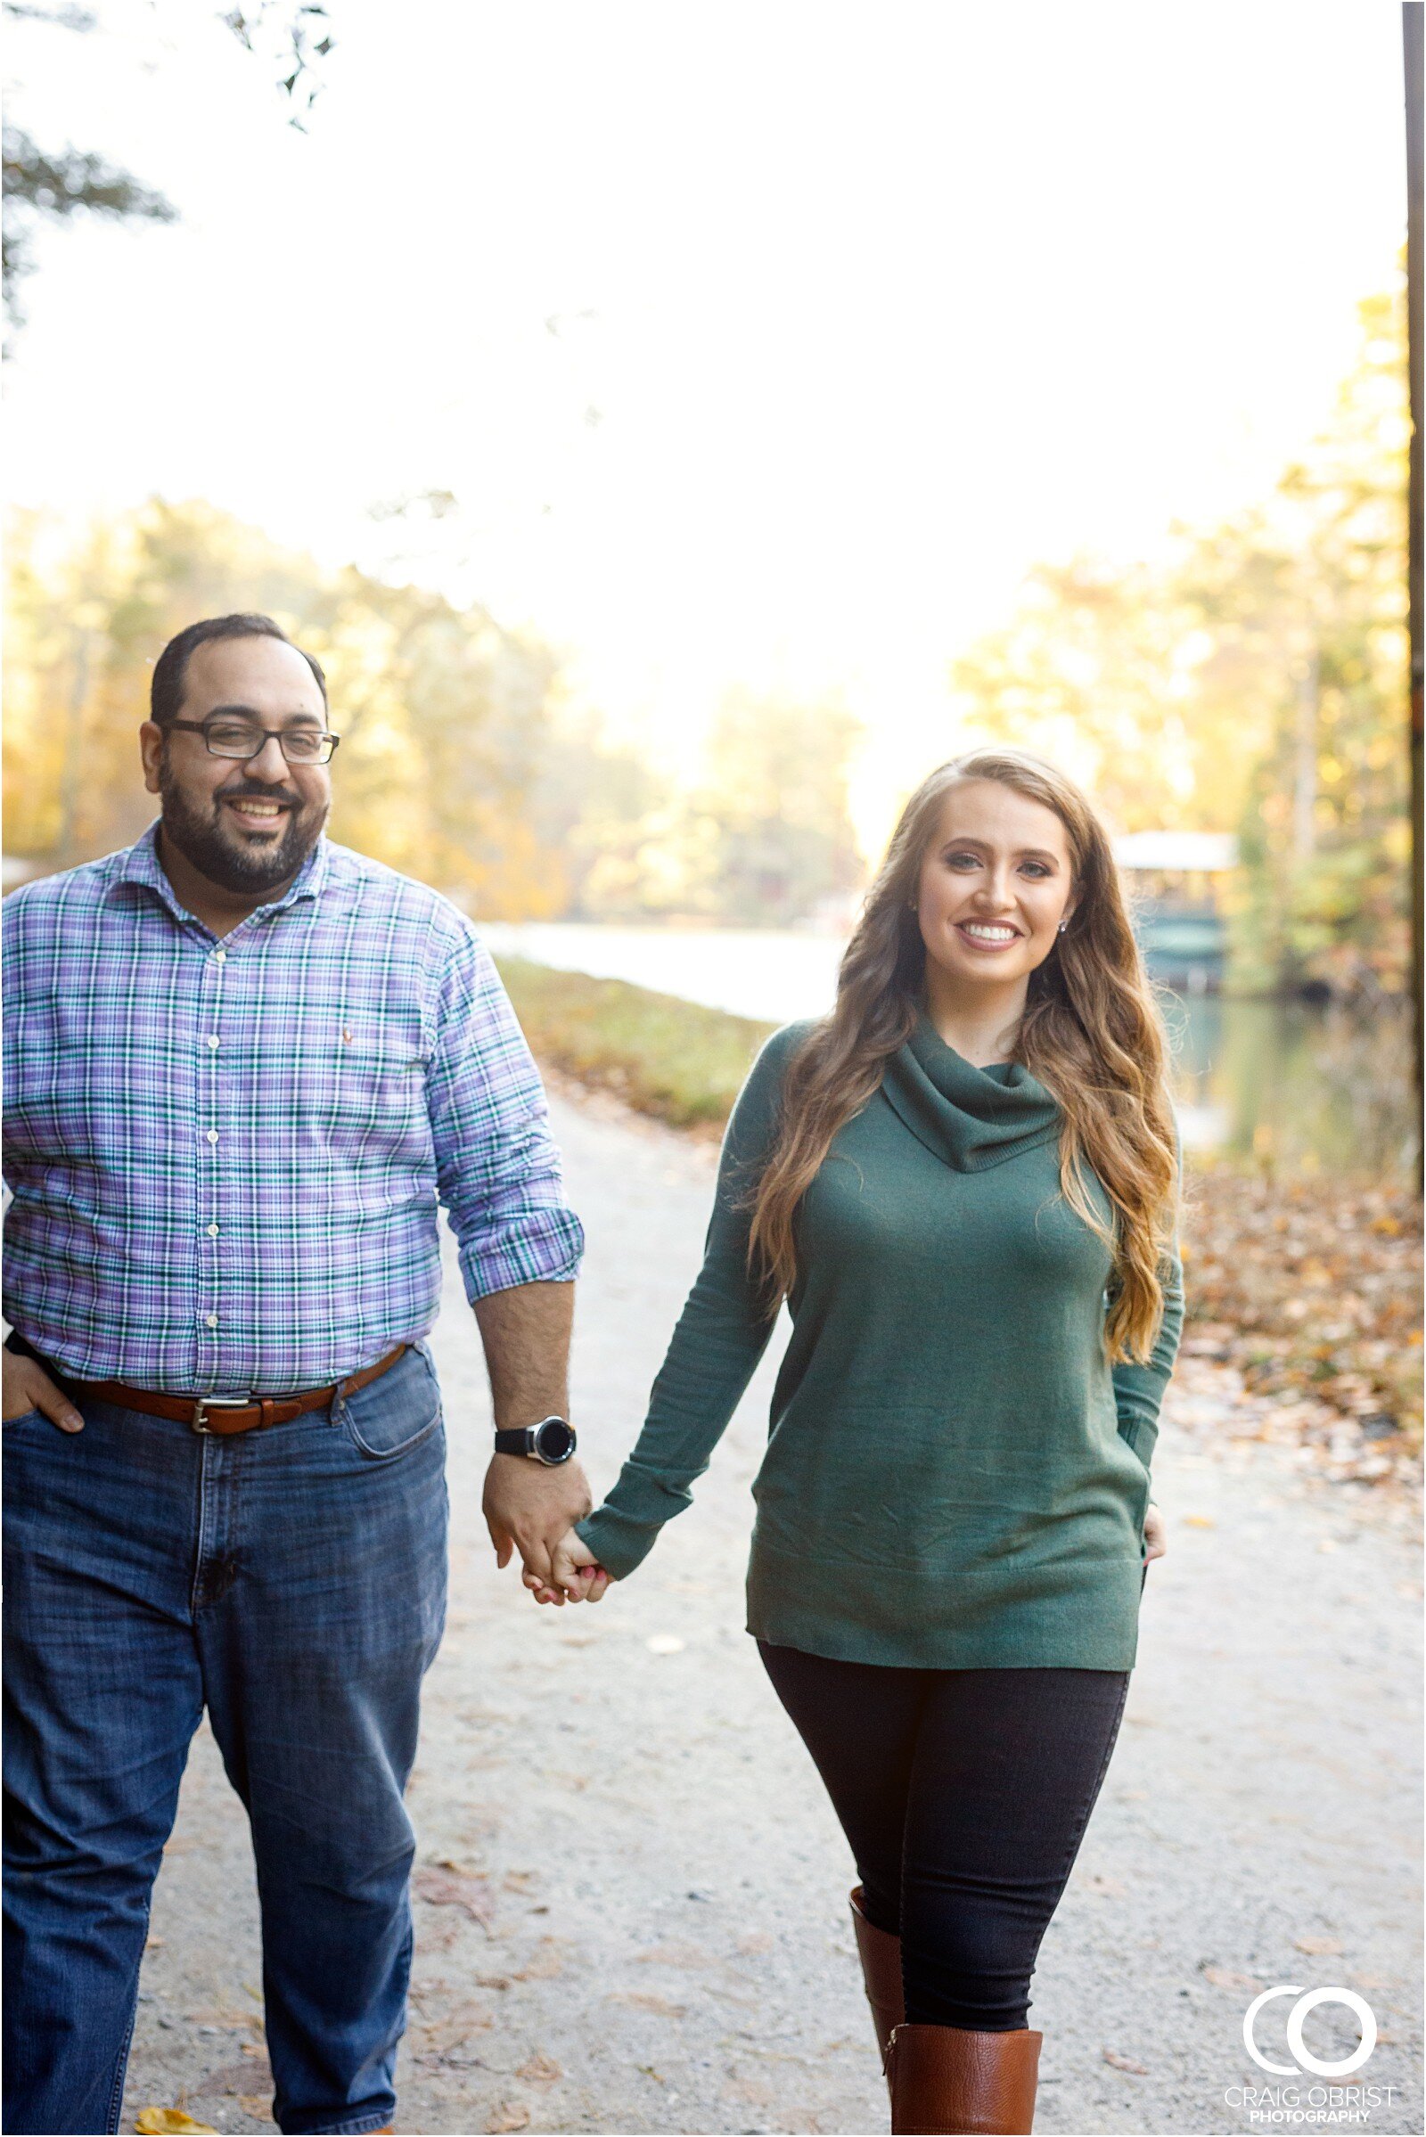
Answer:
[[(1069, 838), (1075, 908), (1030, 972), (1013, 1058), (1058, 1098), (1060, 1192), (1114, 1257), (1107, 1357), (1146, 1359), (1163, 1316), (1163, 1257), (1178, 1220), (1167, 1041), (1103, 818), (1073, 780), (1026, 750), (971, 750), (932, 771), (906, 801), (842, 955), (836, 1007), (789, 1064), (774, 1148), (748, 1199), (748, 1267), (776, 1312), (797, 1274), (797, 1203), (832, 1137), (862, 1111), (887, 1058), (915, 1028), (926, 945), (911, 902), (919, 904), (941, 804), (962, 780), (1001, 780), (1054, 810)], [(1110, 1199), (1110, 1225), (1090, 1201), (1086, 1167)]]

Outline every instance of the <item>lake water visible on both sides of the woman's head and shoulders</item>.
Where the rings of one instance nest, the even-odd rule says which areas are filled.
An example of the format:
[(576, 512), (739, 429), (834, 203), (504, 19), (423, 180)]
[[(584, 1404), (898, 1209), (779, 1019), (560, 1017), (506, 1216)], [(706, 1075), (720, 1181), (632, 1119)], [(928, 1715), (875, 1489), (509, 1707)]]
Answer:
[[(487, 921), (494, 951), (629, 979), (710, 1009), (787, 1024), (832, 1004), (840, 936), (735, 927)], [(1405, 1007), (1373, 1015), (1238, 996), (1169, 996), (1174, 1094), (1191, 1150), (1287, 1173), (1413, 1177)]]

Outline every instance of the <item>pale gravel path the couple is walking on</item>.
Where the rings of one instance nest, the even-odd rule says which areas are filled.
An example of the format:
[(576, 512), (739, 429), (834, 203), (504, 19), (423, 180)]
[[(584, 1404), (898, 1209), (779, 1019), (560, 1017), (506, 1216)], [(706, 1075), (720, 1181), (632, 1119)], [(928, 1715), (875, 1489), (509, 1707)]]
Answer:
[[(697, 1267), (712, 1152), (567, 1098), (556, 1128), (590, 1235), (575, 1415), (599, 1489)], [(772, 1361), (639, 1575), (556, 1611), (490, 1556), (487, 1398), (455, 1280), (436, 1351), (451, 1616), (410, 1789), (421, 1900), (398, 2128), (885, 2128), (851, 1863), (742, 1631)], [(1283, 1981), (1368, 1998), (1381, 2045), (1355, 2081), (1394, 2096), (1366, 2126), (1422, 2128), (1411, 1511), (1234, 1440), (1238, 1415), (1227, 1370), (1187, 1361), (1154, 1464), (1172, 1547), (1035, 1977), (1041, 2133), (1266, 2126), (1225, 2090), (1272, 2084), (1242, 2013)], [(124, 2128), (145, 2105), (272, 2128), (257, 1983), (246, 1825), (203, 1733), (158, 1883)], [(1259, 2026), (1278, 2062), (1285, 2009)], [(1319, 2007), (1306, 2039), (1343, 2058), (1355, 2019)]]

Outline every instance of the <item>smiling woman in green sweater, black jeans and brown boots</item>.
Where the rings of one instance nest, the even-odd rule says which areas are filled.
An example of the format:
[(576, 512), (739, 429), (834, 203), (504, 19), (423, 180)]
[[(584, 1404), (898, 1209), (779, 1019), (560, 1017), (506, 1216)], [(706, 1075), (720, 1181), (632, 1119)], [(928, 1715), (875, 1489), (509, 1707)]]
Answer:
[(1163, 1551), (1176, 1190), (1103, 823), (1018, 750), (943, 765), (836, 1009), (753, 1066), (639, 1442), (532, 1581), (599, 1598), (633, 1573), (785, 1299), (748, 1628), (857, 1861), (894, 2131), (1033, 2124), (1030, 1972)]

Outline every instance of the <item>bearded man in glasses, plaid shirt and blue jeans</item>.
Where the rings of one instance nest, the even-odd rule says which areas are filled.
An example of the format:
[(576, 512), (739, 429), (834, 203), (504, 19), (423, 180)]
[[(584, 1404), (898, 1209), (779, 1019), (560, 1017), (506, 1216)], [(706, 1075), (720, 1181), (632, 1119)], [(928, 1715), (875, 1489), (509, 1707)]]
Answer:
[(590, 1504), (584, 1235), (479, 938), (323, 836), (316, 660), (265, 615), (192, 624), (139, 742), (158, 823), (4, 906), (4, 2128), (118, 2128), (207, 1707), (252, 1825), (278, 2124), (376, 2131), (445, 1616), (436, 1205), (490, 1366), (490, 1534), (530, 1577)]

